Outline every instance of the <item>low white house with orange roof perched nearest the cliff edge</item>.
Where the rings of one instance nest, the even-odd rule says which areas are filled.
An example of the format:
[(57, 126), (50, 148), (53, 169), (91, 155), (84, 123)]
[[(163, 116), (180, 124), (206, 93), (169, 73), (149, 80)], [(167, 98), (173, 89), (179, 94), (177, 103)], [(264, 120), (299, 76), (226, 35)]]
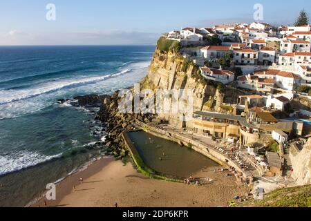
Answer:
[(234, 73), (229, 70), (215, 69), (215, 68), (200, 68), (201, 75), (206, 79), (211, 79), (213, 81), (219, 81), (223, 84), (229, 84), (234, 81)]

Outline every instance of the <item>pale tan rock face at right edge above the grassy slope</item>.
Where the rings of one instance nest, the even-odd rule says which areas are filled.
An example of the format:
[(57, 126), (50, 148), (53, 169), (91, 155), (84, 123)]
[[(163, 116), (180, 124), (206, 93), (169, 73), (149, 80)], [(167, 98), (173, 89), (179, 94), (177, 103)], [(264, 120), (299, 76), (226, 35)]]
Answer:
[(298, 152), (294, 147), (290, 149), (290, 160), (294, 169), (292, 177), (297, 179), (297, 184), (311, 184), (311, 138), (302, 151)]

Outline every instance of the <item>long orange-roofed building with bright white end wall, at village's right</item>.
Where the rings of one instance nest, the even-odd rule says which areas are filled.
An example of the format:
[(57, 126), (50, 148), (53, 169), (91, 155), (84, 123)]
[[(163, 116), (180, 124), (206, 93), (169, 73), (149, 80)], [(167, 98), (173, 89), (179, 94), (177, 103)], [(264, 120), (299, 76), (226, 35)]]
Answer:
[(299, 75), (281, 70), (255, 70), (254, 75), (265, 79), (274, 79), (277, 87), (288, 91), (293, 91), (296, 86), (305, 83), (305, 80), (301, 79)]

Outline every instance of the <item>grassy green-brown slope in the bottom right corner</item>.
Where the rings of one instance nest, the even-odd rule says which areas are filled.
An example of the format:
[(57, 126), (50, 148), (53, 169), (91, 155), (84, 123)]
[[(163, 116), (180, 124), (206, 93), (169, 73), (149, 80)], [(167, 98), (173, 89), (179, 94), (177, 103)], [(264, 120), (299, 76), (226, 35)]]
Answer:
[(264, 200), (247, 200), (236, 206), (245, 207), (310, 207), (311, 185), (278, 189), (267, 193)]

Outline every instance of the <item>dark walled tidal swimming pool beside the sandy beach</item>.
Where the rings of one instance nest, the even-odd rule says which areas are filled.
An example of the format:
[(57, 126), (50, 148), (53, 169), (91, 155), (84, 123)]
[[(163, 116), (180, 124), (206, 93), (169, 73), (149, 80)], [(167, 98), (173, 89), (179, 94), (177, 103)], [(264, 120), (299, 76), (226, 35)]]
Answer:
[(128, 136), (144, 164), (165, 175), (189, 177), (205, 167), (219, 166), (190, 148), (144, 131), (130, 132)]

